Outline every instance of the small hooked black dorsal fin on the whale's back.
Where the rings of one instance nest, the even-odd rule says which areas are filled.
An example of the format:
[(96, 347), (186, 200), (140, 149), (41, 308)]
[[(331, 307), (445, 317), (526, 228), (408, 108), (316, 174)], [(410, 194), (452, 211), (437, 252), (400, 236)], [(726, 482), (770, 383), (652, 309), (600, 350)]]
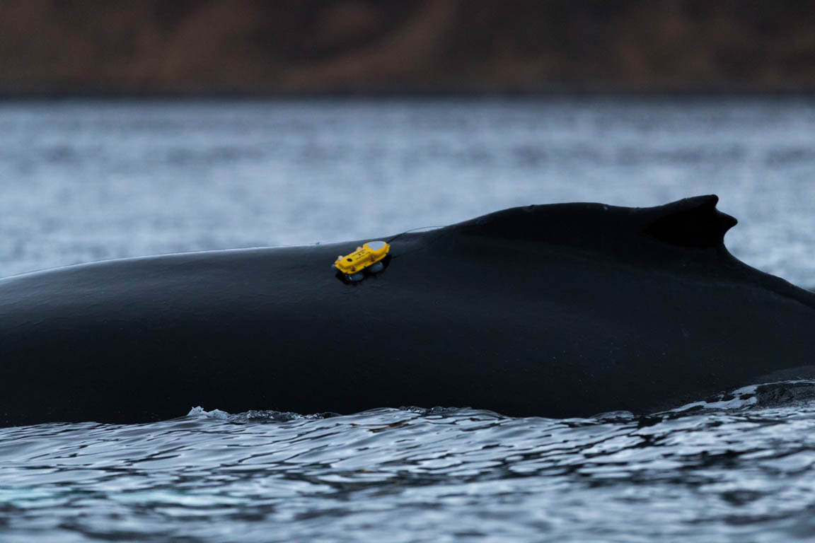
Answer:
[(649, 208), (654, 217), (643, 232), (682, 247), (719, 247), (738, 221), (716, 209), (718, 202), (716, 195), (694, 196)]

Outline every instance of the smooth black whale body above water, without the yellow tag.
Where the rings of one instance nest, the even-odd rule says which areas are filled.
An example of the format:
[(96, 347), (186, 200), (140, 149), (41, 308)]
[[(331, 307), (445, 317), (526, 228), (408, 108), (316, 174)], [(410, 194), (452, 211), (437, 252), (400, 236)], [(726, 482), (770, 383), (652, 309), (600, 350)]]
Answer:
[(330, 265), (360, 241), (5, 278), (0, 423), (142, 423), (195, 405), (647, 414), (815, 376), (815, 296), (731, 256), (735, 220), (716, 202), (508, 209), (403, 234), (355, 284)]

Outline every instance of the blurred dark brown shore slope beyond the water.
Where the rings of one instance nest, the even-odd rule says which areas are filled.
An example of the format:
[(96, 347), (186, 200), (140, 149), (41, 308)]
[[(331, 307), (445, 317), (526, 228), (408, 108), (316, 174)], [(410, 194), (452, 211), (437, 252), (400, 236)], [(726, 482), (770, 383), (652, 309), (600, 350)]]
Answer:
[(808, 0), (0, 2), (7, 95), (813, 86)]

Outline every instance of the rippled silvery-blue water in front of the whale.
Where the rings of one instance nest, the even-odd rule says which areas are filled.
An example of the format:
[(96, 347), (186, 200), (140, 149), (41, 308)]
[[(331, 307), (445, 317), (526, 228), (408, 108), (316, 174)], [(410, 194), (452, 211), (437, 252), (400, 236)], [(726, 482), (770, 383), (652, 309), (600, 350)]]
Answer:
[(0, 430), (2, 541), (815, 537), (815, 382), (637, 417), (192, 409)]

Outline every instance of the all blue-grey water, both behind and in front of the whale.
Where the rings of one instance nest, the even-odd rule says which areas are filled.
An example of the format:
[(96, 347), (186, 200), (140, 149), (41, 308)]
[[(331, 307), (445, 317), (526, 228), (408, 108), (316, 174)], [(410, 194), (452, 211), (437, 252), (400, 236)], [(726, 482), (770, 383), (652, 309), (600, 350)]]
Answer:
[[(812, 99), (0, 104), (0, 276), (711, 192), (731, 252), (815, 286)], [(0, 541), (812, 540), (815, 385), (778, 386), (644, 418), (0, 429)]]

